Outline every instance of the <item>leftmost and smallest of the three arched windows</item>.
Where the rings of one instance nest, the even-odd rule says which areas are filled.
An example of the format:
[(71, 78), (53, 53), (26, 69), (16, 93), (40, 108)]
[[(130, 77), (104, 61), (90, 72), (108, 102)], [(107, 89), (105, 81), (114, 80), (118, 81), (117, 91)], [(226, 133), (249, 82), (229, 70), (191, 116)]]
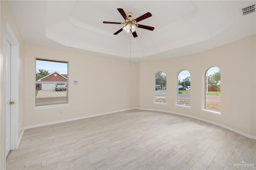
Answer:
[(166, 74), (158, 72), (155, 75), (155, 103), (166, 103)]

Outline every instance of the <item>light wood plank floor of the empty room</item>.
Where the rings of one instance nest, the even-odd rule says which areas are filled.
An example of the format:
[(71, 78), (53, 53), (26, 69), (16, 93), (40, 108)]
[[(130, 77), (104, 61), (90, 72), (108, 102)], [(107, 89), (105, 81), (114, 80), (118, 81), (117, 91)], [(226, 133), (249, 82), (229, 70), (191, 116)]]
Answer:
[[(6, 161), (8, 170), (256, 169), (256, 140), (196, 119), (135, 109), (27, 129)], [(247, 166), (236, 166), (242, 161)]]

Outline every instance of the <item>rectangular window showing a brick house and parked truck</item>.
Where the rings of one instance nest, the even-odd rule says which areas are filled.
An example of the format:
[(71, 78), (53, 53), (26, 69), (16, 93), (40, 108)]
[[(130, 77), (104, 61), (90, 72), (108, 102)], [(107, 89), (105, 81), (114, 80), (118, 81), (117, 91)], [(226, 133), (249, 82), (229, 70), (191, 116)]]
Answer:
[(36, 106), (68, 103), (68, 62), (36, 59)]

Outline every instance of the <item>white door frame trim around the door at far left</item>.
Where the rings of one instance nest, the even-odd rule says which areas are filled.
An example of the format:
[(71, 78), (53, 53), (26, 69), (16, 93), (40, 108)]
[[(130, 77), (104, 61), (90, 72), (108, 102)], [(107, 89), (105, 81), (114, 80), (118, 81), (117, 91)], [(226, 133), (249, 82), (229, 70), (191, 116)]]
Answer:
[[(18, 148), (18, 111), (19, 111), (19, 42), (12, 32), (11, 27), (5, 22), (5, 37), (4, 37), (4, 80), (6, 79), (6, 40), (11, 44), (11, 100), (15, 101), (11, 109), (10, 121), (10, 150)], [(10, 69), (10, 68), (9, 68)], [(17, 74), (18, 73), (18, 74)], [(4, 83), (4, 120), (6, 120), (6, 82)], [(4, 138), (6, 136), (6, 123), (4, 122)], [(4, 166), (6, 163), (6, 140), (4, 140)], [(5, 168), (5, 167), (4, 167)]]

